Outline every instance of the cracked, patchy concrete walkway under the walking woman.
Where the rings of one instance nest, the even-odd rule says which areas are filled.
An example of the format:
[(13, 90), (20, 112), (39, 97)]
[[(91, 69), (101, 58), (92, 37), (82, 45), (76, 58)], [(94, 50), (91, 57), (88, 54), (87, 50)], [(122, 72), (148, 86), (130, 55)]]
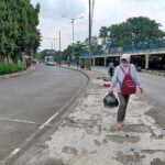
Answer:
[[(101, 72), (101, 70), (100, 70)], [(48, 136), (25, 165), (164, 165), (165, 130), (160, 128), (139, 94), (130, 99), (125, 125), (118, 130), (118, 108), (105, 108), (103, 88), (98, 72), (85, 70), (91, 78), (87, 97)], [(19, 164), (16, 164), (19, 165)]]

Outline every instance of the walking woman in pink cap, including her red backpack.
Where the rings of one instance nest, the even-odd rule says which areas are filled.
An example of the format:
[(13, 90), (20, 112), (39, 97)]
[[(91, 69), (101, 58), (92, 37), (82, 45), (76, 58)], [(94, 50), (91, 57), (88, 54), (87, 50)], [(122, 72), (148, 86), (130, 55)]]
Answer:
[(117, 87), (120, 106), (118, 109), (117, 127), (121, 129), (124, 123), (125, 111), (131, 94), (135, 94), (136, 86), (140, 88), (141, 94), (143, 94), (143, 88), (138, 77), (135, 66), (130, 64), (131, 57), (129, 54), (123, 54), (121, 56), (120, 65), (116, 67), (114, 75), (112, 77), (112, 82), (109, 94), (111, 95), (113, 88)]

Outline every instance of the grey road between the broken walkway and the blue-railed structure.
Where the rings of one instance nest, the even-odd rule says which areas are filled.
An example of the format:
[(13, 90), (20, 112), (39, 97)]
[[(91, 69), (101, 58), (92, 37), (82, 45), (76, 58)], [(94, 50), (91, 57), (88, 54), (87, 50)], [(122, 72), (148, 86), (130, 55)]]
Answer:
[[(108, 75), (107, 67), (92, 67), (94, 70)], [(165, 118), (165, 77), (139, 73), (144, 95), (141, 97)]]

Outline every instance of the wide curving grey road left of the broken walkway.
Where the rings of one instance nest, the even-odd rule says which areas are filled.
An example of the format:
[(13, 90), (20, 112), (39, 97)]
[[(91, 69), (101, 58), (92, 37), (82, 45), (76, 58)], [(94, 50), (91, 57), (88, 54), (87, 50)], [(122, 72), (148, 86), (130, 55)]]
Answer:
[(0, 161), (86, 82), (86, 76), (78, 72), (45, 65), (31, 75), (0, 80)]

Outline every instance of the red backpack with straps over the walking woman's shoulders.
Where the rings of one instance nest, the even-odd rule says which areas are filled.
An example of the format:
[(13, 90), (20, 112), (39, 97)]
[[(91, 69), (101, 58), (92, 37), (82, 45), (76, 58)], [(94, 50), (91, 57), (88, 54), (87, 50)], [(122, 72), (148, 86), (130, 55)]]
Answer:
[(129, 66), (129, 72), (128, 73), (125, 73), (124, 69), (121, 66), (120, 66), (120, 69), (125, 75), (123, 81), (120, 82), (121, 94), (122, 95), (135, 94), (135, 91), (136, 91), (136, 85), (135, 85), (135, 82), (132, 79), (131, 74), (130, 74), (131, 65)]

